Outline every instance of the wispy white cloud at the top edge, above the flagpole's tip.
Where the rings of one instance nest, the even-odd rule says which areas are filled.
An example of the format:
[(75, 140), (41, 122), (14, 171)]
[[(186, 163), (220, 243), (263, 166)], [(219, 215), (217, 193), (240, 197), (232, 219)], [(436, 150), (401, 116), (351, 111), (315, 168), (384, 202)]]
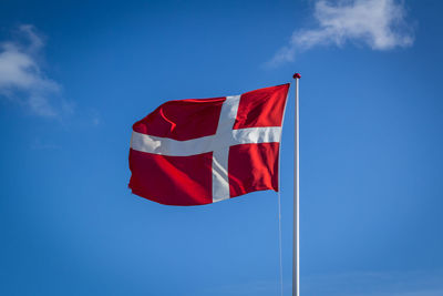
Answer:
[(318, 45), (356, 42), (373, 50), (410, 47), (414, 38), (405, 17), (403, 1), (318, 0), (313, 12), (318, 25), (293, 31), (289, 44), (277, 51), (268, 64), (293, 61), (297, 52)]

